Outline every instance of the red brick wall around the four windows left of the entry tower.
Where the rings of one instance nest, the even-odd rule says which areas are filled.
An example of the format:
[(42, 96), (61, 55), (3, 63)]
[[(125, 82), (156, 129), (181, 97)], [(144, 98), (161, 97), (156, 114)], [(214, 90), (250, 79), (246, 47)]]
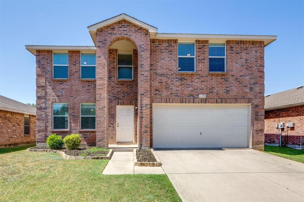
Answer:
[[(52, 51), (36, 52), (37, 143), (45, 143), (52, 133), (80, 133), (83, 144), (95, 145), (95, 131), (80, 130), (80, 103), (96, 102), (96, 81), (80, 79), (80, 51), (69, 51), (68, 79), (52, 79)], [(52, 130), (52, 103), (68, 103), (70, 128)]]

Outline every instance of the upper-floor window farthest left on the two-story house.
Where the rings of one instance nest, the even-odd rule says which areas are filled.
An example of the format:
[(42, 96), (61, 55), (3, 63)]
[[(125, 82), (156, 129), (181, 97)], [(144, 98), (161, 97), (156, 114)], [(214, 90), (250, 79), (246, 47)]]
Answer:
[(57, 52), (53, 54), (53, 79), (67, 79), (68, 75), (68, 54)]

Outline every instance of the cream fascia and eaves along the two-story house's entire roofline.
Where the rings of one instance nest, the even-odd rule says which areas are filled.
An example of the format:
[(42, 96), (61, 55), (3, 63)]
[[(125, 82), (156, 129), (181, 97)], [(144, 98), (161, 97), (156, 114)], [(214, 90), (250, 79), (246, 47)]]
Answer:
[[(268, 45), (277, 39), (274, 35), (231, 35), (231, 34), (178, 34), (178, 33), (157, 33), (157, 28), (142, 22), (130, 15), (122, 13), (115, 17), (98, 22), (88, 26), (88, 31), (96, 45), (97, 29), (120, 20), (129, 21), (135, 25), (142, 27), (150, 32), (150, 39), (178, 39), (179, 41), (209, 40), (209, 42), (226, 42), (226, 40), (244, 40), (244, 41), (264, 41), (264, 45)], [(53, 46), (53, 45), (26, 45), (26, 49), (36, 55), (36, 50), (52, 50), (53, 52), (68, 50), (80, 50), (82, 52), (96, 52), (95, 46)]]

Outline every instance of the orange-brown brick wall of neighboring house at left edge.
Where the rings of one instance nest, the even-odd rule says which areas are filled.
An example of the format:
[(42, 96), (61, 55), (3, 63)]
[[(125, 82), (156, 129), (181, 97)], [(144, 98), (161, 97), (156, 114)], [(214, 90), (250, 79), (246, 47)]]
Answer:
[(24, 135), (24, 114), (0, 110), (0, 147), (36, 143), (36, 116), (29, 115), (29, 135)]

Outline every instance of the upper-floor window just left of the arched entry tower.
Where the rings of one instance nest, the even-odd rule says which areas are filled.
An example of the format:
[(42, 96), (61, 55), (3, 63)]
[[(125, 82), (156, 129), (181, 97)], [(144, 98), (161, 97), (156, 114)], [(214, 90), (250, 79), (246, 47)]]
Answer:
[(81, 79), (96, 79), (96, 54), (81, 53)]

